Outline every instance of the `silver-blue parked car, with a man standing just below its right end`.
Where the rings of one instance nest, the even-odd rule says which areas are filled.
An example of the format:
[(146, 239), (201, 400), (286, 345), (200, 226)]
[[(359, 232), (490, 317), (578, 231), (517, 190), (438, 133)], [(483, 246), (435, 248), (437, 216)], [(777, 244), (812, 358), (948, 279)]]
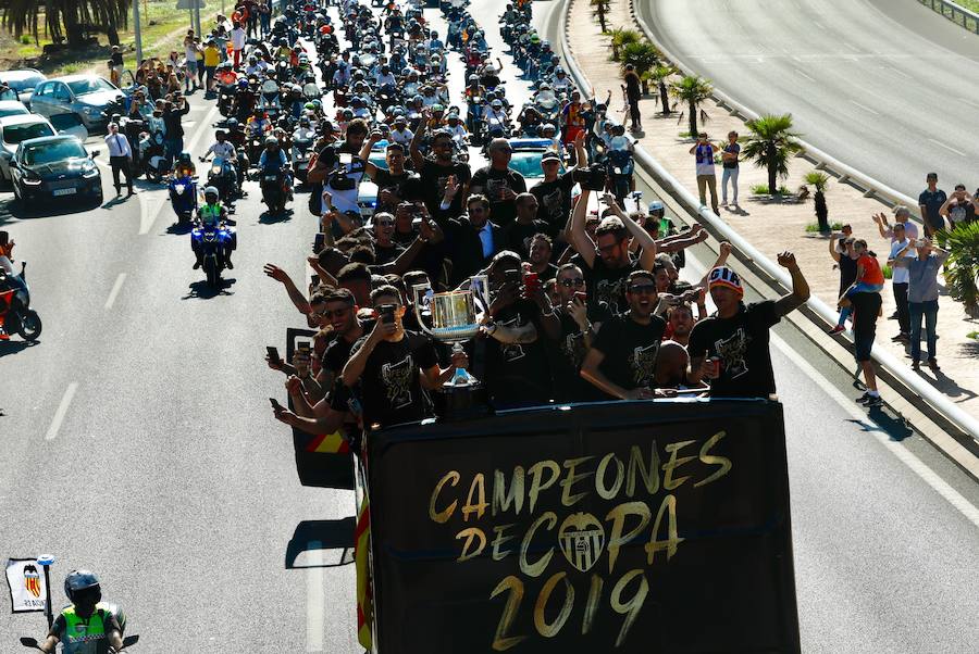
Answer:
[(48, 79), (34, 89), (30, 109), (42, 116), (76, 113), (88, 131), (106, 131), (106, 111), (125, 95), (98, 75), (67, 75)]

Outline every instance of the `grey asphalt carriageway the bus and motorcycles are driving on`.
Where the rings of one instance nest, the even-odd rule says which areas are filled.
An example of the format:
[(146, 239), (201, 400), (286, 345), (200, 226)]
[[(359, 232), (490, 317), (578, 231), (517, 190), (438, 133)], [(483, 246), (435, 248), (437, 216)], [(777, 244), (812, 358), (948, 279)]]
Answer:
[[(501, 5), (472, 8), (494, 50)], [(536, 5), (547, 34), (559, 25), (547, 21), (556, 7)], [(458, 80), (461, 64), (451, 65)], [(505, 67), (519, 103), (513, 73)], [(187, 141), (198, 129), (208, 135), (197, 154), (215, 115), (199, 93), (193, 104)], [(111, 198), (104, 172), (103, 185)], [(283, 389), (264, 347), (282, 348), (285, 327), (301, 322), (261, 268), (275, 262), (294, 279), (306, 275), (315, 229), (306, 198), (297, 196), (289, 219), (269, 221), (249, 185), (236, 214), (234, 282), (210, 297), (190, 269), (188, 237), (168, 230), (165, 190), (140, 186), (138, 200), (95, 211), (0, 214), (30, 262), (45, 319), (36, 345), (0, 343), (0, 555), (57, 555), (57, 605), (67, 570), (100, 571), (107, 598), (142, 634), (140, 652), (359, 652), (352, 567), (284, 565), (300, 523), (354, 514), (351, 492), (298, 483), (290, 439), (267, 399)], [(160, 207), (151, 223), (140, 203), (149, 217)], [(693, 255), (714, 257), (703, 246)], [(791, 326), (776, 332), (789, 349), (772, 357), (785, 403), (803, 650), (974, 651), (979, 525), (905, 461), (919, 461), (967, 505), (979, 505), (976, 485), (888, 412), (855, 413), (852, 378)], [(323, 552), (322, 563), (340, 563), (340, 552)], [(42, 630), (37, 614), (0, 611), (10, 643), (0, 650)]]

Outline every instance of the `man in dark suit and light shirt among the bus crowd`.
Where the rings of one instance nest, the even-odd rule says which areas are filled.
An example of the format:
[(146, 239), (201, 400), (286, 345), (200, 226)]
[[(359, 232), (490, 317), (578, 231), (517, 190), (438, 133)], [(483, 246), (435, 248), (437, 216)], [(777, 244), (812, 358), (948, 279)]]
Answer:
[[(449, 180), (443, 204), (451, 203), (458, 188), (455, 180)], [(466, 209), (466, 214), (449, 218), (444, 226), (447, 255), (453, 262), (449, 286), (454, 288), (490, 265), (497, 252), (507, 249), (503, 229), (490, 221), (490, 200), (485, 196), (470, 196)]]

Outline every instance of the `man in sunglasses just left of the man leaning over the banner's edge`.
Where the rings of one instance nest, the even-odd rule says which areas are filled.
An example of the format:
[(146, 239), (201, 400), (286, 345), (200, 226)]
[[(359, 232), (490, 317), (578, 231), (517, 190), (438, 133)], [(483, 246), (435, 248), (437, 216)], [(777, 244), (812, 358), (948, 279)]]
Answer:
[(603, 306), (585, 303), (584, 275), (574, 264), (565, 264), (556, 277), (555, 314), (560, 320), (559, 338), (549, 339), (548, 359), (558, 402), (595, 402), (605, 394), (582, 379), (581, 362), (592, 347), (602, 324), (611, 315)]

